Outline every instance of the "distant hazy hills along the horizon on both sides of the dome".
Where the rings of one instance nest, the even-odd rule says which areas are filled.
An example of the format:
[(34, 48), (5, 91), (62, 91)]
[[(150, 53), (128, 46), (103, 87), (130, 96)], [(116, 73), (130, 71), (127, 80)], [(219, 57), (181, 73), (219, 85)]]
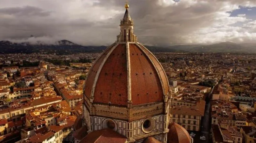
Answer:
[[(256, 53), (256, 43), (236, 44), (233, 42), (220, 42), (212, 45), (171, 45), (167, 47), (146, 46), (151, 52), (192, 52), (192, 53)], [(55, 44), (37, 42), (15, 43), (0, 41), (0, 53), (87, 53), (102, 52), (107, 46), (83, 46), (68, 40), (60, 40)]]

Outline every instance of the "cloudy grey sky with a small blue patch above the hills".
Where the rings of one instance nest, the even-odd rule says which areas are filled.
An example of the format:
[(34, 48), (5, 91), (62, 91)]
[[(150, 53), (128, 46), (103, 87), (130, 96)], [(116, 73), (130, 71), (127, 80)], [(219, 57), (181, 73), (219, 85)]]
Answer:
[[(129, 0), (145, 45), (256, 41), (256, 0)], [(125, 0), (0, 0), (0, 40), (110, 45)], [(35, 37), (30, 37), (33, 35)]]

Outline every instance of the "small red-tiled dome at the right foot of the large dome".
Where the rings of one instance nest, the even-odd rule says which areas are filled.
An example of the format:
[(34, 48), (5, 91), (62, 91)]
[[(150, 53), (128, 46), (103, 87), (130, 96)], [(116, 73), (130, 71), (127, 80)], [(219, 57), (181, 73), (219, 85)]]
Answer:
[(189, 133), (177, 123), (168, 126), (167, 143), (191, 143)]

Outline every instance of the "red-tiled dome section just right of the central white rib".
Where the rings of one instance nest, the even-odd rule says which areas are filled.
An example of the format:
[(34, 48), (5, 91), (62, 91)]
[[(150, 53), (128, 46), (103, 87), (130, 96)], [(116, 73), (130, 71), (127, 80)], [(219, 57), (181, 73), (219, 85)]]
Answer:
[(135, 44), (129, 45), (131, 63), (131, 100), (133, 105), (163, 101), (157, 71)]

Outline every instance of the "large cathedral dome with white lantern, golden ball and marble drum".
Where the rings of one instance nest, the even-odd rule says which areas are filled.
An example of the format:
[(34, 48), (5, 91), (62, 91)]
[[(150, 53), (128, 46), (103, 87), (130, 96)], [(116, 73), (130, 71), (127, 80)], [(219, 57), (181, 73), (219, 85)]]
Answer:
[(83, 124), (88, 133), (111, 129), (128, 143), (149, 139), (167, 143), (168, 79), (157, 58), (137, 42), (128, 9), (127, 2), (116, 42), (96, 59), (88, 73)]

